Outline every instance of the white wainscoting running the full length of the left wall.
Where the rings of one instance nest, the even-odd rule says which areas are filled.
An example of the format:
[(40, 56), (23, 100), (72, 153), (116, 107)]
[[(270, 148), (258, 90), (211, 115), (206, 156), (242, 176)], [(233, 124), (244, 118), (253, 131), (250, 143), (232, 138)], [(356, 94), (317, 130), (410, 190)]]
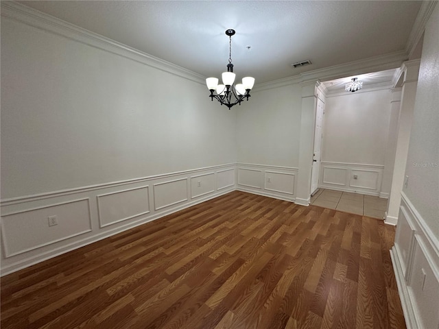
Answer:
[(2, 199), (1, 276), (234, 191), (235, 176), (230, 163)]

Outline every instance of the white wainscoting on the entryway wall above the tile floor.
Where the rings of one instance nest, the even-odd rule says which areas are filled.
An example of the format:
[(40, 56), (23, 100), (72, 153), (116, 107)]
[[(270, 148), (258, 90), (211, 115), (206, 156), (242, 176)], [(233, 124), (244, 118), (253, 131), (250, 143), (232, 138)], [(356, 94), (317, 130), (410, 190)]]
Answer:
[(383, 169), (379, 164), (322, 161), (319, 187), (379, 196)]

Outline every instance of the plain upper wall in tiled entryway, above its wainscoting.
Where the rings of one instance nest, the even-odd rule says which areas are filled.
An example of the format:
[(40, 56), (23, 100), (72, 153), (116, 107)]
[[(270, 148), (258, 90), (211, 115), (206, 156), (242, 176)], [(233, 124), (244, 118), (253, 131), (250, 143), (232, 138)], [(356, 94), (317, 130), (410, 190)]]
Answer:
[(383, 165), (391, 100), (388, 89), (327, 96), (322, 160)]

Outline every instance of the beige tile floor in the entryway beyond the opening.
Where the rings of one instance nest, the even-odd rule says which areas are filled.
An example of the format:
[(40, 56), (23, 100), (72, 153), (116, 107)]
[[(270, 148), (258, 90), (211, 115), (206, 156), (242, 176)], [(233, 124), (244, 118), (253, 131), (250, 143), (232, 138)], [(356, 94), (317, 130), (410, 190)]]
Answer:
[(384, 218), (384, 212), (387, 210), (387, 202), (388, 199), (373, 197), (372, 195), (333, 191), (323, 188), (320, 188), (319, 191), (311, 197), (311, 204), (314, 206), (331, 208), (379, 219)]

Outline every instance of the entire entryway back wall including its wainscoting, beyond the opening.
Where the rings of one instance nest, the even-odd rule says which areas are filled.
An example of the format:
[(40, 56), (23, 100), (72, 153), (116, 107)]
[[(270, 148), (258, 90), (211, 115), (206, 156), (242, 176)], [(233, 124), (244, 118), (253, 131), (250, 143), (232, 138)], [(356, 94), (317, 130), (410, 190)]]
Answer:
[(380, 195), (391, 100), (389, 88), (327, 95), (320, 187)]

